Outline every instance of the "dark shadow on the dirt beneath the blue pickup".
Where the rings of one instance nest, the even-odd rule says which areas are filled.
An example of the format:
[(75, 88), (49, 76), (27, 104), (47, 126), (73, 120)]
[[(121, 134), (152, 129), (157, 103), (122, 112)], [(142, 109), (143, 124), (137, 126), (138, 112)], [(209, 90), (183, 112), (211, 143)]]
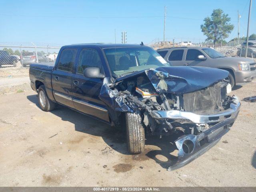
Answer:
[[(36, 104), (40, 109), (36, 95), (27, 96), (27, 99)], [(117, 130), (100, 120), (96, 120), (90, 116), (86, 116), (60, 105), (56, 110), (51, 111), (51, 113), (60, 117), (63, 121), (73, 123), (76, 131), (102, 137), (104, 142), (108, 145), (105, 149), (102, 149), (102, 152), (108, 149), (115, 150), (121, 154), (131, 156), (131, 159), (134, 161), (153, 159), (163, 168), (168, 168), (177, 160), (177, 158), (170, 153), (176, 150), (174, 140), (176, 140), (178, 135), (163, 136), (161, 139), (157, 136), (147, 135), (144, 152), (138, 155), (130, 155), (126, 148), (126, 134), (124, 131)]]

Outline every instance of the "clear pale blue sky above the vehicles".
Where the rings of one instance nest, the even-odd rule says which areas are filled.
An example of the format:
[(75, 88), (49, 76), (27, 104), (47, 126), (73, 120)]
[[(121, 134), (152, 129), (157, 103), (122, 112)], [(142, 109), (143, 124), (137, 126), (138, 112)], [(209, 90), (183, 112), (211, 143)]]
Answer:
[[(168, 39), (202, 41), (206, 37), (200, 24), (217, 8), (224, 10), (235, 26), (227, 40), (237, 36), (237, 10), (242, 14), (240, 36), (246, 36), (250, 0), (1, 1), (0, 42), (72, 44), (114, 42), (115, 29), (117, 43), (121, 42), (123, 30), (127, 32), (128, 43), (162, 39), (164, 6)], [(255, 10), (253, 0), (250, 34), (256, 33)]]

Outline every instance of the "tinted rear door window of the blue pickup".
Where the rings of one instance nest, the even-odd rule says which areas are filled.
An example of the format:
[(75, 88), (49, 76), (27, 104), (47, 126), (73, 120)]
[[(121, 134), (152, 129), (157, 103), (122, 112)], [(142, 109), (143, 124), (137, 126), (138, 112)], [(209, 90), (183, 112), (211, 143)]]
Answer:
[(60, 60), (58, 63), (58, 69), (72, 72), (72, 67), (76, 58), (76, 49), (64, 49), (60, 55)]

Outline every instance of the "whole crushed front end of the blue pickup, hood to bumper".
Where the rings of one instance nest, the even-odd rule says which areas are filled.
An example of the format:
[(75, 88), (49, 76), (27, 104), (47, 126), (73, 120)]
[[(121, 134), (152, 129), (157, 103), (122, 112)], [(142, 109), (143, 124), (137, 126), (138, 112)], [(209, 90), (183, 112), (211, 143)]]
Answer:
[(214, 146), (228, 132), (239, 112), (236, 96), (227, 95), (228, 72), (204, 67), (160, 67), (104, 79), (100, 99), (112, 123), (122, 112), (138, 112), (148, 134), (182, 133), (175, 141), (174, 170)]

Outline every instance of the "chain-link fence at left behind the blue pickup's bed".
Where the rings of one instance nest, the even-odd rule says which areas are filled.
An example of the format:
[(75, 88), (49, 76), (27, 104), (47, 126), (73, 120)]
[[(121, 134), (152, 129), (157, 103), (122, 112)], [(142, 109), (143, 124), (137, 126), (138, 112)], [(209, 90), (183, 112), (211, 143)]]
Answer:
[(0, 68), (55, 61), (60, 47), (50, 44), (0, 43)]

